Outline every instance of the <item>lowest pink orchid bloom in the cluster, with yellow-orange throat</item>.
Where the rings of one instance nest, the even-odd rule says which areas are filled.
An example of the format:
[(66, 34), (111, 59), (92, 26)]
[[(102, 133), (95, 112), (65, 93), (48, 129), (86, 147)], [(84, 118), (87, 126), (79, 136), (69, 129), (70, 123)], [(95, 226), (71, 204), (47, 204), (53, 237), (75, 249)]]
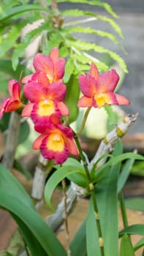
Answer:
[(63, 164), (69, 154), (78, 155), (72, 129), (65, 127), (59, 121), (55, 124), (49, 122), (45, 127), (38, 124), (34, 129), (42, 134), (34, 141), (33, 148), (39, 149), (44, 158), (55, 159), (55, 164), (58, 165)]

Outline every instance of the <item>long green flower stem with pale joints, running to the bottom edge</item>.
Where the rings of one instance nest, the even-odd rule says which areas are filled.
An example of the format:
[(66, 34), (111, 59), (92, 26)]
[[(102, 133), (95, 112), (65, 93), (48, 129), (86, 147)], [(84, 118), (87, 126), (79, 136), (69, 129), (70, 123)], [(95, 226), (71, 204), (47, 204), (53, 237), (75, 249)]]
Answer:
[(83, 155), (83, 151), (82, 151), (82, 148), (80, 146), (80, 142), (77, 138), (77, 135), (75, 137), (75, 143), (77, 144), (77, 149), (80, 153), (80, 159), (83, 161), (83, 167), (85, 168), (86, 176), (88, 178), (88, 185), (89, 185), (89, 189), (90, 189), (90, 192), (91, 192), (91, 198), (92, 198), (93, 205), (94, 205), (94, 213), (95, 213), (95, 217), (96, 217), (96, 226), (97, 226), (98, 235), (99, 235), (99, 246), (100, 246), (101, 256), (105, 256), (104, 246), (103, 246), (103, 239), (102, 239), (102, 228), (101, 228), (100, 221), (99, 221), (99, 210), (98, 210), (97, 203), (96, 203), (96, 195), (95, 195), (95, 192), (94, 192), (94, 185), (91, 181), (91, 176), (90, 176), (90, 173), (88, 171), (88, 165), (87, 165), (87, 162), (86, 162), (86, 158)]

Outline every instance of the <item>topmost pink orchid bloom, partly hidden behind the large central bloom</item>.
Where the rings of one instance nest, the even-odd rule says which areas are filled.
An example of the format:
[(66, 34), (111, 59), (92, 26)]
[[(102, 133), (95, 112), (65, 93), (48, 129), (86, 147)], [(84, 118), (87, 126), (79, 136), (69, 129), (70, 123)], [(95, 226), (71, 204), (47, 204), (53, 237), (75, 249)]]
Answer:
[[(49, 56), (37, 53), (34, 56), (34, 74), (23, 78), (23, 83), (29, 83), (30, 80), (38, 81), (39, 76), (43, 76), (43, 81), (47, 80), (47, 86), (50, 83), (61, 81), (64, 77), (65, 59), (59, 58), (58, 48), (53, 48)], [(45, 86), (45, 83), (42, 83)]]

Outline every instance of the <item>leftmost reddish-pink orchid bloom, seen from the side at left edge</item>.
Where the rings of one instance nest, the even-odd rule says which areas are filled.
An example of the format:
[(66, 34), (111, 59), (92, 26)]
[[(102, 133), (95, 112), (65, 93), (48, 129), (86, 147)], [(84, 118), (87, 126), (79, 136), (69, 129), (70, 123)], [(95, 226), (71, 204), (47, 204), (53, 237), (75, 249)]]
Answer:
[(11, 79), (8, 84), (10, 97), (3, 100), (0, 106), (0, 119), (5, 112), (12, 112), (18, 110), (23, 106), (20, 102), (20, 83), (17, 80)]

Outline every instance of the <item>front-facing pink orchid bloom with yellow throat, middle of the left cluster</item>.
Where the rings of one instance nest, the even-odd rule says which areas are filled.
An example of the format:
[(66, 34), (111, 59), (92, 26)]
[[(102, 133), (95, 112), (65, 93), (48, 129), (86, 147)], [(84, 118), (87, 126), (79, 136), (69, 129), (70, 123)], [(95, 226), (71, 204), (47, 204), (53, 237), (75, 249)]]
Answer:
[(68, 116), (67, 105), (62, 102), (66, 94), (63, 83), (50, 83), (48, 87), (41, 83), (30, 82), (23, 87), (23, 93), (30, 103), (23, 108), (22, 116), (31, 116), (34, 123), (49, 121), (51, 115)]

